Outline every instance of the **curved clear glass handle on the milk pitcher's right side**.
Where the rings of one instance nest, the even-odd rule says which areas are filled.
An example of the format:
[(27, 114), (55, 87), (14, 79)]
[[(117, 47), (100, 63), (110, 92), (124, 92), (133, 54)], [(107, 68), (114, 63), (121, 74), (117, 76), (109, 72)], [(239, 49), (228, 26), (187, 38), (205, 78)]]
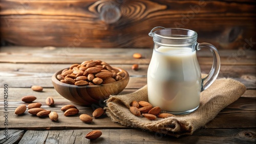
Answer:
[(206, 42), (197, 43), (196, 51), (199, 51), (201, 49), (210, 50), (212, 53), (212, 56), (214, 57), (210, 73), (205, 78), (202, 79), (201, 91), (203, 91), (207, 89), (217, 79), (220, 71), (221, 60), (220, 60), (219, 52), (214, 45)]

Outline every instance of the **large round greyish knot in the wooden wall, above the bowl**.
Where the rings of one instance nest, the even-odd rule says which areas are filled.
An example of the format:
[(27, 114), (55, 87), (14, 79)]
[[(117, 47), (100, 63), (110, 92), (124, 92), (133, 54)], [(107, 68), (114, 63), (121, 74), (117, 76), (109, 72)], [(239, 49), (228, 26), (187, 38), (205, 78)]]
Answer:
[(102, 3), (98, 6), (98, 12), (101, 20), (108, 24), (115, 23), (121, 17), (120, 9), (115, 3)]

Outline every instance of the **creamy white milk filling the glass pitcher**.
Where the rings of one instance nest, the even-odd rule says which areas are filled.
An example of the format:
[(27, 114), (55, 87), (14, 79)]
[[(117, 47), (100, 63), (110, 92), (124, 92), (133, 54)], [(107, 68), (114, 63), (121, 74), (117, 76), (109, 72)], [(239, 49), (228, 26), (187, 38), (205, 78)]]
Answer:
[(199, 106), (201, 71), (196, 52), (161, 46), (153, 51), (147, 71), (148, 101), (170, 112)]

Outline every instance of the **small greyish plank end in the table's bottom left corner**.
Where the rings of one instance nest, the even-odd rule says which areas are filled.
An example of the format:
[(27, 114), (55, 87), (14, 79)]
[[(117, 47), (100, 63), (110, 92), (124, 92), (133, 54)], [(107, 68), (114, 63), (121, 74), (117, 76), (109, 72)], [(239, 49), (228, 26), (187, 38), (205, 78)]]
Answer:
[(0, 131), (0, 143), (18, 143), (22, 139), (25, 131), (24, 130), (11, 130), (4, 129)]

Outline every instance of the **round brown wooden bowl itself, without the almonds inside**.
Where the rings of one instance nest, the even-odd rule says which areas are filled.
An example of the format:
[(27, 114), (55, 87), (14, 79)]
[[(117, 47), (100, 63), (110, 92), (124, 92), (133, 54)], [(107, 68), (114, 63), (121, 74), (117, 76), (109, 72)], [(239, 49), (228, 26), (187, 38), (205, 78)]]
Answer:
[(129, 82), (129, 74), (122, 68), (114, 69), (123, 71), (125, 76), (116, 82), (100, 85), (76, 86), (62, 83), (57, 79), (57, 75), (61, 74), (61, 70), (52, 76), (52, 83), (55, 90), (69, 101), (83, 106), (91, 106), (92, 104), (102, 105), (102, 102), (109, 98), (110, 95), (120, 93)]

